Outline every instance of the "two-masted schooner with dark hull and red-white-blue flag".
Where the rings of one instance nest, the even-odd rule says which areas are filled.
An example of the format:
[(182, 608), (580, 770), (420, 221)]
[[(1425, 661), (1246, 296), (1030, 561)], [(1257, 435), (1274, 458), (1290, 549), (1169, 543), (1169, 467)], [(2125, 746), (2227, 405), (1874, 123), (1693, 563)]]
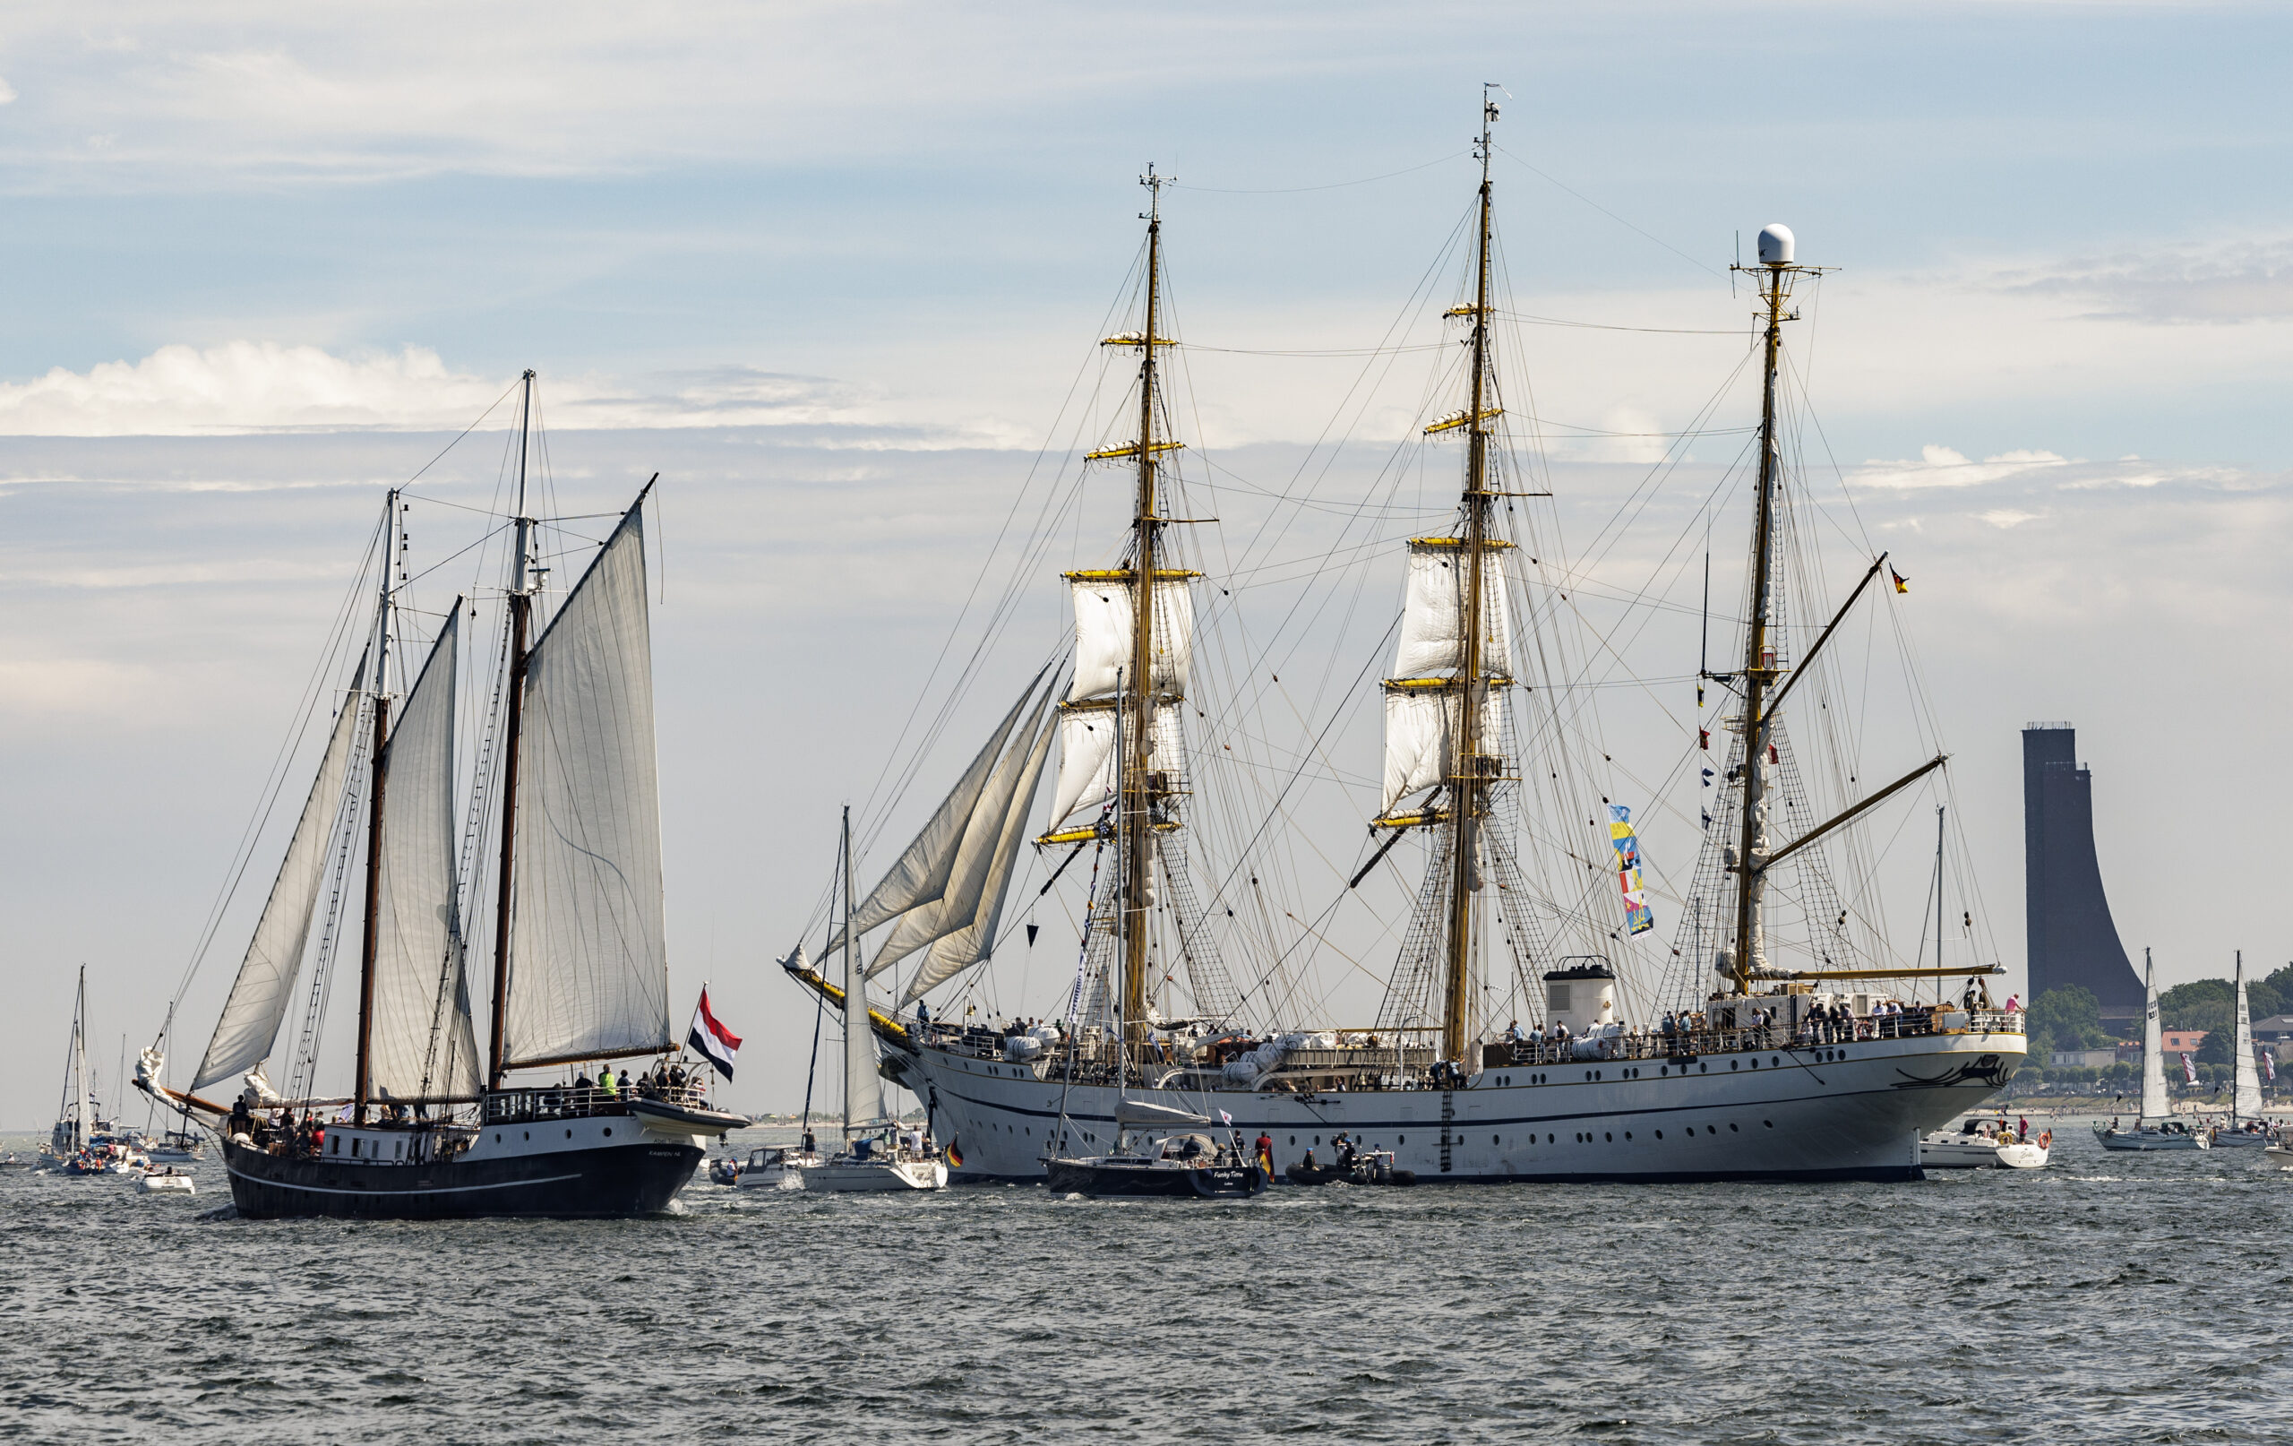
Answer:
[[(408, 500), (392, 489), (367, 555), (374, 608), (362, 627), (353, 611), (337, 629), (349, 677), (319, 695), (332, 725), (188, 1088), (165, 1083), (165, 1037), (142, 1051), (138, 1086), (218, 1134), (243, 1216), (647, 1214), (674, 1200), (709, 1138), (745, 1125), (681, 1070), (679, 1083), (647, 1070), (628, 1088), (610, 1074), (612, 1060), (674, 1047), (644, 565), (651, 482), (580, 581), (553, 597), (541, 558), (555, 551), (539, 542), (553, 519), (527, 510), (532, 392), (525, 372), (516, 500), (493, 532), (507, 542), (507, 576), (475, 762), (465, 769), (456, 751), (470, 712), (456, 693), (461, 629), (477, 611), (468, 597), (445, 613), (413, 606)], [(553, 549), (569, 542), (550, 537)], [(433, 627), (417, 645), (424, 622)], [(493, 925), (484, 1044), (472, 918)], [(321, 1097), (344, 946), (358, 966), (353, 1083)], [(289, 1067), (275, 1088), (282, 1047)]]

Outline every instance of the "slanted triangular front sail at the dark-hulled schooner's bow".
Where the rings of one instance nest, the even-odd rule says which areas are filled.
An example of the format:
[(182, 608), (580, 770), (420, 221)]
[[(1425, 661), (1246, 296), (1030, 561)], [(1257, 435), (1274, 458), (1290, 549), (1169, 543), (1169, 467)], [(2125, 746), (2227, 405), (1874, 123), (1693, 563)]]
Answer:
[(236, 1079), (259, 1065), (277, 1040), (280, 1021), (287, 1019), (287, 996), (303, 966), (310, 918), (319, 907), (319, 884), (326, 881), (328, 842), (335, 835), (335, 817), (342, 813), (342, 778), (362, 716), (358, 700), (355, 691), (344, 698), (335, 732), (326, 739), (319, 776), (312, 778), (310, 796), (303, 799), (303, 817), (296, 819), (294, 835), (287, 840), (287, 856), (280, 861), (277, 879), (271, 881), (271, 897), (264, 900), (255, 936), (248, 939), (248, 955), (238, 962), (232, 996), (222, 1005), (222, 1017), (216, 1019), (216, 1035), (206, 1042), (199, 1072), (190, 1076), (193, 1093), (218, 1079)]

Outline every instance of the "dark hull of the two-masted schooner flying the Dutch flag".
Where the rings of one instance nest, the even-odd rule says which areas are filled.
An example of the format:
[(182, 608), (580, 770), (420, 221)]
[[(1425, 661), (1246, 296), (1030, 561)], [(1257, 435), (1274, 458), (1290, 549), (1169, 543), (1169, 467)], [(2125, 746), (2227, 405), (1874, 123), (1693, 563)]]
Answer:
[(692, 1145), (651, 1141), (445, 1164), (351, 1164), (222, 1148), (232, 1203), (248, 1219), (624, 1219), (667, 1210), (699, 1161)]

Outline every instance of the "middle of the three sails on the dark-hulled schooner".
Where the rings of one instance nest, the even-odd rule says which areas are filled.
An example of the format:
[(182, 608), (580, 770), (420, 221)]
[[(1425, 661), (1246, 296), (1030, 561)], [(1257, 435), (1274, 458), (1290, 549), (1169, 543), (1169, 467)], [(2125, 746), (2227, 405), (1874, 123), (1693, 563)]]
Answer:
[(376, 1099), (479, 1093), (454, 881), (454, 677), (461, 601), (383, 748), (383, 861), (374, 927)]

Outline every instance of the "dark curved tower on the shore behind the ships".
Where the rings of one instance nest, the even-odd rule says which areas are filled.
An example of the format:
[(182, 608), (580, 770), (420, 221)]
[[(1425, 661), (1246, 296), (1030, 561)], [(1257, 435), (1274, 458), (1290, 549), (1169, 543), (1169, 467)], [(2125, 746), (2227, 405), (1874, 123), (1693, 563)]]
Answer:
[(2022, 730), (2022, 879), (2032, 998), (2077, 985), (2105, 1026), (2139, 1026), (2142, 978), (2110, 918), (2094, 852), (2094, 773), (2077, 767), (2068, 723)]

